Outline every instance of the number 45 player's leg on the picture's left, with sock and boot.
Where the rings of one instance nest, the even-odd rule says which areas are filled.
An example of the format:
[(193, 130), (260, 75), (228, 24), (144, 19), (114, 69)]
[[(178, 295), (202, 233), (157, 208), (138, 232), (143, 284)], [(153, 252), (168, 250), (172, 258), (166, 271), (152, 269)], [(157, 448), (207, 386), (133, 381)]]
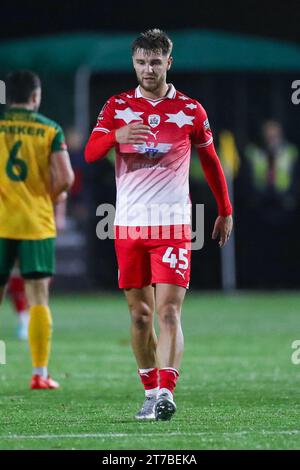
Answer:
[(136, 419), (154, 419), (154, 405), (158, 392), (156, 359), (157, 338), (154, 330), (154, 289), (126, 289), (131, 314), (131, 344), (139, 367), (139, 375), (145, 389), (145, 401)]

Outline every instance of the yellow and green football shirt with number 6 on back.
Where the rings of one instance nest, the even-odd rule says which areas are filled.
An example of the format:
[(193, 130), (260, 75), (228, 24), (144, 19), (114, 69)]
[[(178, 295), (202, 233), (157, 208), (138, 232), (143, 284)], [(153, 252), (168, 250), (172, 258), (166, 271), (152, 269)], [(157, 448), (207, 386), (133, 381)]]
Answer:
[(0, 237), (55, 237), (50, 155), (66, 149), (60, 126), (45, 116), (10, 108), (0, 116)]

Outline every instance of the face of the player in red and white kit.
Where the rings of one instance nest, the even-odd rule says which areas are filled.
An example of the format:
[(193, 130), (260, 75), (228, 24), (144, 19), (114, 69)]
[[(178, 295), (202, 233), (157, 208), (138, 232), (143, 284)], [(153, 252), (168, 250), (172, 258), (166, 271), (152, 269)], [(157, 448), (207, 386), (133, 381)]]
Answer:
[(144, 90), (154, 92), (166, 83), (172, 57), (163, 55), (161, 51), (138, 49), (132, 60), (138, 83)]

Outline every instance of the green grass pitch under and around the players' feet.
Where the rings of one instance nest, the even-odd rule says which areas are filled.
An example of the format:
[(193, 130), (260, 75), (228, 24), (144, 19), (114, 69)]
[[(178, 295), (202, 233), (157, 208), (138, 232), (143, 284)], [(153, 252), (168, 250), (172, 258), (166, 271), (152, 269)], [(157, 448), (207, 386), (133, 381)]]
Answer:
[(51, 373), (30, 391), (28, 346), (6, 302), (0, 449), (299, 449), (300, 296), (198, 294), (183, 310), (185, 355), (170, 422), (136, 422), (143, 391), (123, 296), (53, 297)]

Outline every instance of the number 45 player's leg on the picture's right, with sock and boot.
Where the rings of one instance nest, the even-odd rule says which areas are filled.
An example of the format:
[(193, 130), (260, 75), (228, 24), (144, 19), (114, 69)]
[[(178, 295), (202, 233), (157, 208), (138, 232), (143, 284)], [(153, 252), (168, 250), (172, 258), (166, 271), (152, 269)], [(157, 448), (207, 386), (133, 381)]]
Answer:
[(184, 339), (181, 328), (181, 308), (184, 287), (171, 284), (156, 285), (156, 308), (159, 323), (157, 356), (160, 363), (160, 388), (155, 404), (155, 418), (169, 420), (176, 411), (173, 392), (179, 377)]

